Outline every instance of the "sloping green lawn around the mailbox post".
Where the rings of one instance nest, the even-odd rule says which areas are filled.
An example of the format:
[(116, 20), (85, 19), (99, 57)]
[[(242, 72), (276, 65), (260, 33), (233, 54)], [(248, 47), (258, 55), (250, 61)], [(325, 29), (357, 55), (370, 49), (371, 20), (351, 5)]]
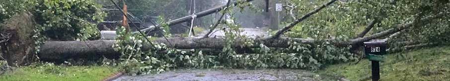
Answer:
[[(450, 80), (450, 46), (418, 49), (385, 55), (380, 64), (380, 81), (447, 81)], [(371, 80), (371, 64), (360, 63), (331, 65), (318, 71), (331, 77), (345, 77), (351, 81)], [(338, 75), (338, 76), (335, 76)]]

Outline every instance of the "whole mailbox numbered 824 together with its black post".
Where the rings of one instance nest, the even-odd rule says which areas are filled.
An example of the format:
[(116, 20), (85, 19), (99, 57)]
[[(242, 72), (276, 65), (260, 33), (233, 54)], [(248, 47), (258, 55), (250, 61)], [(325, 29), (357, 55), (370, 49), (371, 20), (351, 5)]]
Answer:
[(379, 62), (384, 60), (386, 47), (384, 40), (364, 42), (364, 53), (372, 61), (372, 81), (379, 81)]

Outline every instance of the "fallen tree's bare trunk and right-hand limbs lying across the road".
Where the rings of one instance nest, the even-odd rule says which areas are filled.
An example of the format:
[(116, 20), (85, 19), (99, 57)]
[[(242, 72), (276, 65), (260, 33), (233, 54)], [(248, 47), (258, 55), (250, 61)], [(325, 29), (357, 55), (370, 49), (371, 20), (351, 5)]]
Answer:
[[(247, 0), (251, 1), (251, 0)], [(314, 13), (317, 13), (320, 9), (325, 6), (330, 5), (336, 0), (331, 0), (326, 4), (314, 9), (309, 12), (305, 16), (298, 19), (296, 22), (288, 25), (287, 27), (279, 30), (277, 34), (271, 37), (262, 37), (251, 39), (254, 40), (254, 45), (264, 44), (268, 47), (281, 47), (287, 48), (289, 47), (289, 42), (298, 42), (304, 44), (314, 44), (315, 42), (328, 41), (336, 46), (361, 46), (364, 41), (374, 40), (378, 38), (382, 38), (402, 30), (410, 28), (414, 22), (394, 25), (391, 29), (388, 29), (383, 32), (379, 32), (364, 38), (355, 38), (348, 41), (336, 40), (336, 39), (325, 39), (325, 40), (315, 40), (315, 39), (299, 39), (299, 38), (284, 38), (280, 37), (287, 30), (291, 29), (298, 24), (302, 20), (311, 16)], [(423, 21), (427, 21), (431, 18), (423, 18)], [(373, 23), (370, 23), (370, 26)], [(250, 38), (243, 38), (250, 39)], [(156, 39), (152, 40), (153, 43), (164, 43), (168, 47), (176, 48), (176, 49), (222, 49), (225, 45), (225, 40), (223, 38), (168, 38), (166, 39)], [(242, 46), (241, 44), (244, 42), (242, 40), (235, 40), (233, 43), (235, 48), (256, 48), (259, 46)], [(89, 56), (107, 56), (107, 57), (118, 57), (120, 53), (114, 51), (112, 47), (115, 43), (115, 40), (91, 40), (91, 41), (47, 41), (44, 45), (41, 46), (41, 53), (39, 54), (41, 59), (66, 59), (66, 58), (74, 58), (74, 57), (89, 57)], [(143, 50), (150, 49), (151, 45), (143, 45)]]

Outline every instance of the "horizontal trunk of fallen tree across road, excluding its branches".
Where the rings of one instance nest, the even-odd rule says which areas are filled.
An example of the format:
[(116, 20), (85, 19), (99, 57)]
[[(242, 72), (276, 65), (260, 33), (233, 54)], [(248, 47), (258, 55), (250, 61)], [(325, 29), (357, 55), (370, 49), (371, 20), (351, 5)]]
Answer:
[[(168, 44), (168, 41), (172, 44)], [(152, 40), (154, 43), (165, 43), (167, 47), (177, 49), (211, 49), (214, 52), (224, 47), (225, 41), (223, 38), (168, 38)], [(315, 40), (312, 39), (255, 39), (255, 43), (263, 43), (268, 47), (289, 47), (288, 42), (297, 41), (299, 43), (312, 44)], [(244, 41), (236, 40), (234, 45), (239, 52), (252, 52), (245, 49), (256, 48), (256, 46), (241, 46)], [(116, 52), (112, 47), (115, 40), (90, 40), (90, 41), (47, 41), (41, 45), (41, 52), (39, 57), (41, 60), (56, 60), (69, 58), (118, 58), (119, 52)], [(150, 45), (143, 45), (142, 50), (149, 50)], [(220, 52), (220, 51), (219, 51)]]

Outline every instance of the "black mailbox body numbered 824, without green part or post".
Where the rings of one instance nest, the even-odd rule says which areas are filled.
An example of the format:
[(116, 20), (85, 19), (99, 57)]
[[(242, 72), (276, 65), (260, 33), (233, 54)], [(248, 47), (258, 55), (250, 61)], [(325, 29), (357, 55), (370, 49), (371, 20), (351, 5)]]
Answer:
[(366, 55), (384, 55), (386, 54), (387, 43), (384, 40), (364, 42), (364, 53)]

